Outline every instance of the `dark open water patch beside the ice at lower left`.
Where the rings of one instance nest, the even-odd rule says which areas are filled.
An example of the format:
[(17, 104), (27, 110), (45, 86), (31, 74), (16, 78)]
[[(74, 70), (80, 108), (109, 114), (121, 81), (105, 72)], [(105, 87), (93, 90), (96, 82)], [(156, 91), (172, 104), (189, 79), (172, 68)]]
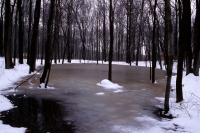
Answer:
[(13, 127), (26, 127), (26, 133), (74, 133), (73, 122), (63, 121), (70, 115), (58, 102), (49, 99), (35, 99), (23, 95), (7, 96), (17, 106), (1, 112), (0, 120)]

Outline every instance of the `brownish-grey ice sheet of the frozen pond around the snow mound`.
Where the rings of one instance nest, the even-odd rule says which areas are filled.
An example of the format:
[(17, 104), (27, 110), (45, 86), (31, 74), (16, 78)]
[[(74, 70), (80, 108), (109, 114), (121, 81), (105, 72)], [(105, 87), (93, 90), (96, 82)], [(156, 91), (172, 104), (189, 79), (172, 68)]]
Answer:
[[(29, 107), (23, 106), (23, 108), (37, 110), (37, 112), (45, 111), (44, 114), (47, 115), (47, 119), (44, 119), (42, 123), (50, 124), (50, 127), (55, 126), (54, 129), (59, 129), (59, 127), (56, 124), (48, 123), (48, 117), (57, 118), (56, 113), (59, 114), (59, 110), (64, 112), (64, 114), (60, 113), (59, 121), (70, 122), (76, 127), (70, 128), (75, 128), (74, 132), (77, 133), (118, 132), (113, 128), (121, 126), (143, 128), (142, 124), (144, 123), (135, 118), (146, 115), (157, 119), (153, 112), (160, 101), (154, 97), (164, 96), (165, 71), (156, 70), (157, 83), (152, 84), (149, 80), (149, 68), (113, 65), (113, 82), (123, 88), (112, 90), (96, 85), (107, 78), (107, 70), (108, 65), (53, 65), (48, 85), (55, 89), (38, 89), (40, 75), (36, 74), (18, 88), (17, 95), (25, 94), (34, 97), (36, 104), (32, 105), (32, 103)], [(38, 99), (44, 99), (44, 101)], [(53, 101), (54, 104), (45, 104), (45, 99)], [(59, 105), (62, 105), (64, 110), (55, 101), (59, 101)], [(40, 109), (41, 106), (43, 109)], [(58, 112), (51, 112), (51, 108), (54, 108), (52, 106), (58, 108), (58, 110), (55, 109)], [(48, 109), (46, 109), (47, 107)], [(23, 113), (25, 109), (20, 112)], [(34, 118), (34, 116), (28, 115), (29, 113), (23, 116), (24, 119), (32, 120)], [(65, 124), (62, 125), (65, 127)], [(28, 127), (26, 125), (21, 126)], [(41, 128), (44, 128), (45, 132), (48, 131), (45, 126)]]

